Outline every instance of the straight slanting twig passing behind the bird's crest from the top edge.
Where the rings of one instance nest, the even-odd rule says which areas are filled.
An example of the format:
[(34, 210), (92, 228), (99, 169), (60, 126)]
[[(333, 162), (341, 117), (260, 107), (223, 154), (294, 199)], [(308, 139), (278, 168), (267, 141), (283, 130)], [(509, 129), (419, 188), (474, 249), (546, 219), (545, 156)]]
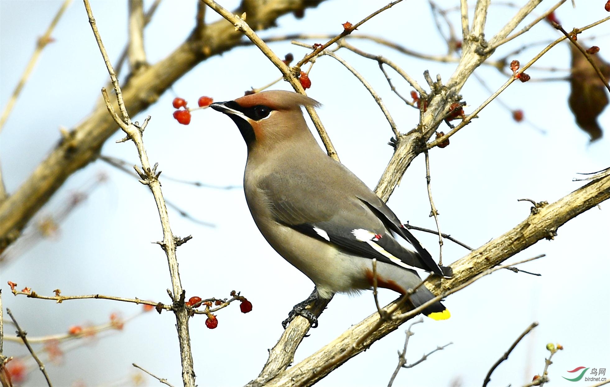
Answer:
[[(265, 54), (265, 56), (267, 56), (269, 58), (269, 60), (271, 60), (271, 63), (273, 63), (275, 65), (275, 67), (277, 67), (278, 70), (281, 71), (281, 73), (284, 75), (284, 79), (290, 83), (290, 85), (295, 90), (295, 92), (303, 94), (303, 95), (307, 95), (305, 93), (305, 89), (303, 89), (303, 86), (301, 86), (301, 82), (298, 80), (298, 78), (296, 78), (295, 74), (292, 73), (290, 68), (288, 68), (286, 63), (284, 63), (281, 59), (279, 59), (279, 57), (273, 51), (271, 51), (269, 46), (267, 46), (267, 44), (259, 37), (259, 35), (257, 35), (253, 31), (253, 29), (250, 28), (248, 23), (246, 23), (246, 21), (244, 19), (246, 17), (245, 14), (242, 15), (243, 16), (243, 18), (242, 18), (242, 16), (233, 15), (233, 13), (229, 12), (229, 10), (224, 9), (223, 7), (221, 7), (221, 5), (219, 5), (217, 2), (215, 2), (213, 0), (202, 0), (202, 1), (205, 2), (211, 9), (215, 10), (221, 16), (223, 16), (223, 18), (230, 21), (235, 26), (236, 31), (239, 30), (239, 31), (243, 32), (243, 34), (246, 35), (246, 37), (248, 37), (248, 39), (251, 40), (254, 43), (254, 45), (256, 45), (260, 49), (260, 51), (262, 51), (263, 54)], [(398, 0), (398, 1), (400, 1), (400, 0)], [(307, 60), (309, 60), (309, 59), (307, 59)], [(296, 67), (300, 68), (301, 65), (303, 65), (303, 63), (299, 63)], [(330, 139), (330, 137), (328, 137), (328, 134), (326, 133), (326, 129), (324, 129), (324, 126), (322, 125), (322, 122), (320, 121), (320, 117), (318, 117), (317, 112), (315, 112), (314, 108), (310, 107), (310, 106), (307, 106), (306, 110), (307, 110), (307, 113), (309, 113), (309, 117), (311, 117), (311, 120), (314, 123), (314, 126), (318, 131), (318, 134), (320, 135), (322, 143), (324, 144), (324, 146), (326, 148), (326, 153), (328, 153), (328, 156), (331, 156), (333, 159), (336, 159), (337, 161), (339, 161), (339, 156), (337, 155), (337, 151), (335, 150), (334, 146), (332, 145), (331, 139)]]

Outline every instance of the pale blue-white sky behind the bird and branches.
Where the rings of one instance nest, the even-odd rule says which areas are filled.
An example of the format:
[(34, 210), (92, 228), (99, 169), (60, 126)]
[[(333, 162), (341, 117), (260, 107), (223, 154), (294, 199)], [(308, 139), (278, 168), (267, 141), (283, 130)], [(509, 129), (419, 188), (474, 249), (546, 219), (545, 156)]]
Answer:
[[(576, 9), (569, 3), (557, 12), (568, 30), (608, 15), (601, 2), (600, 5), (577, 1)], [(4, 107), (35, 39), (59, 4), (0, 1), (0, 106)], [(167, 56), (188, 35), (195, 4), (195, 1), (162, 2), (145, 34), (151, 62)], [(237, 2), (221, 4), (232, 9)], [(284, 16), (277, 28), (260, 35), (336, 34), (342, 29), (341, 23), (346, 20), (355, 23), (385, 4), (386, 1), (323, 2), (308, 9), (302, 20)], [(439, 1), (443, 7), (454, 4), (459, 2)], [(545, 2), (545, 7), (550, 5)], [(92, 7), (110, 58), (116, 59), (126, 42), (127, 6), (122, 1), (93, 1)], [(487, 36), (503, 26), (514, 12), (511, 7), (492, 5)], [(458, 14), (451, 17), (459, 29)], [(215, 21), (218, 16), (208, 10), (206, 20)], [(380, 35), (430, 54), (446, 52), (429, 7), (422, 1), (405, 0), (364, 24), (359, 32)], [(580, 41), (608, 32), (608, 26), (603, 24), (584, 33)], [(56, 42), (43, 52), (0, 135), (0, 162), (9, 191), (20, 185), (59, 140), (59, 126), (70, 128), (87, 116), (107, 80), (81, 1), (71, 5), (53, 36)], [(496, 56), (501, 57), (503, 52), (525, 42), (557, 36), (558, 32), (540, 23), (509, 48), (498, 49)], [(607, 36), (589, 41), (601, 47), (600, 54), (606, 60), (610, 58), (607, 42)], [(422, 85), (426, 69), (433, 77), (441, 74), (445, 81), (453, 73), (454, 64), (424, 62), (361, 40), (354, 40), (353, 44), (392, 58)], [(280, 56), (293, 52), (295, 58), (300, 58), (307, 52), (289, 42), (274, 43), (271, 47)], [(525, 63), (541, 48), (511, 59)], [(350, 52), (338, 53), (373, 84), (401, 131), (415, 126), (417, 111), (405, 107), (390, 92), (376, 62)], [(539, 65), (568, 68), (568, 55), (567, 45), (558, 45)], [(557, 75), (538, 70), (528, 73), (533, 80)], [(478, 74), (494, 90), (506, 81), (506, 76), (492, 68), (481, 68)], [(223, 309), (215, 330), (207, 329), (201, 316), (191, 320), (195, 372), (201, 386), (243, 385), (255, 377), (265, 363), (267, 349), (281, 334), (280, 322), (292, 305), (309, 295), (312, 283), (260, 236), (242, 190), (201, 189), (163, 180), (167, 175), (210, 184), (239, 185), (246, 156), (239, 131), (226, 117), (204, 110), (193, 114), (190, 125), (182, 126), (171, 117), (171, 100), (176, 95), (190, 104), (196, 103), (201, 95), (213, 96), (217, 101), (234, 99), (249, 87), (260, 87), (278, 75), (256, 48), (237, 48), (201, 63), (176, 82), (173, 90), (162, 95), (157, 104), (132, 115), (132, 119), (139, 121), (147, 114), (152, 116), (145, 132), (145, 145), (151, 161), (159, 162), (163, 171), (165, 197), (194, 217), (217, 225), (206, 228), (170, 212), (174, 233), (193, 235), (192, 241), (178, 250), (187, 297), (228, 297), (235, 289), (242, 291), (254, 305), (249, 314), (240, 313), (237, 305)], [(374, 187), (392, 154), (392, 148), (386, 145), (392, 136), (387, 121), (364, 87), (333, 59), (318, 59), (310, 78), (312, 88), (308, 94), (323, 103), (319, 114), (343, 164)], [(392, 74), (392, 78), (401, 93), (409, 95), (411, 88), (397, 74)], [(289, 90), (289, 85), (279, 84), (277, 88)], [(501, 98), (511, 107), (523, 109), (526, 118), (544, 128), (546, 135), (526, 123), (515, 123), (506, 109), (492, 103), (451, 139), (450, 146), (430, 152), (432, 190), (443, 232), (478, 247), (525, 219), (530, 205), (517, 202), (518, 198), (557, 200), (582, 185), (572, 181), (576, 172), (593, 172), (609, 166), (610, 133), (589, 145), (587, 135), (573, 123), (567, 106), (568, 93), (567, 82), (515, 82)], [(464, 109), (468, 113), (489, 93), (472, 78), (462, 95), (468, 103)], [(606, 109), (600, 117), (606, 128), (609, 114)], [(102, 154), (137, 162), (131, 143), (115, 144), (120, 137), (120, 133), (115, 134), (102, 148)], [(102, 300), (57, 305), (15, 298), (10, 295), (7, 280), (20, 287), (29, 286), (40, 294), (51, 294), (53, 289), (60, 288), (63, 294), (101, 293), (168, 302), (165, 289), (171, 284), (167, 262), (162, 250), (150, 243), (161, 239), (156, 208), (148, 190), (135, 178), (103, 162), (92, 163), (68, 179), (45, 211), (52, 212), (58, 203), (67, 200), (70, 192), (91, 181), (100, 170), (106, 171), (109, 181), (68, 217), (59, 237), (40, 242), (17, 261), (2, 267), (4, 306), (13, 310), (32, 336), (61, 333), (70, 325), (84, 322), (99, 324), (112, 311), (129, 316), (139, 306)], [(434, 228), (434, 220), (428, 217), (423, 156), (417, 157), (407, 170), (389, 204), (403, 222)], [(403, 369), (395, 386), (449, 386), (456, 378), (464, 386), (481, 385), (489, 367), (534, 320), (540, 326), (495, 371), (491, 385), (522, 385), (542, 372), (547, 342), (559, 342), (565, 347), (550, 367), (553, 386), (568, 385), (570, 382), (565, 382), (561, 375), (569, 375), (565, 371), (576, 366), (610, 368), (607, 206), (602, 204), (602, 211), (592, 209), (580, 215), (560, 228), (554, 241), (540, 241), (508, 261), (545, 253), (545, 258), (523, 266), (525, 270), (542, 273), (542, 277), (501, 270), (451, 295), (445, 302), (453, 315), (451, 319), (443, 322), (426, 319), (424, 324), (416, 325), (407, 359), (415, 361), (422, 353), (449, 341), (454, 344), (413, 369)], [(423, 233), (416, 236), (432, 255), (437, 255), (434, 236)], [(463, 248), (446, 242), (444, 262), (453, 262), (465, 253)], [(384, 303), (395, 296), (393, 292), (381, 291)], [(295, 361), (306, 358), (373, 311), (370, 292), (357, 297), (335, 297), (321, 316), (320, 327), (304, 339)], [(318, 385), (387, 385), (397, 364), (396, 351), (403, 345), (404, 329), (377, 342)], [(5, 353), (15, 355), (23, 353), (23, 349), (9, 343)], [(55, 385), (70, 385), (77, 379), (88, 386), (111, 385), (134, 372), (131, 366), (134, 362), (168, 378), (174, 385), (181, 385), (172, 314), (146, 314), (127, 324), (118, 335), (67, 353), (61, 366), (48, 364), (48, 370)], [(157, 383), (148, 377), (146, 381), (148, 385)], [(26, 385), (41, 383), (43, 378), (36, 371)]]

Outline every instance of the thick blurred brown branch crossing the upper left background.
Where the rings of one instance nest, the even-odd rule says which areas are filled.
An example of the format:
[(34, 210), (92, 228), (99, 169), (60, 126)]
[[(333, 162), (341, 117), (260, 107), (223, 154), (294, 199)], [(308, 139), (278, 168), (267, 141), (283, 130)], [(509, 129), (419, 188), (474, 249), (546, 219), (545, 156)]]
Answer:
[[(323, 0), (270, 0), (248, 4), (248, 20), (260, 29), (274, 26), (279, 16), (315, 7)], [(242, 9), (235, 10), (242, 13)], [(201, 34), (201, 38), (197, 38)], [(123, 87), (123, 98), (132, 115), (155, 103), (181, 76), (210, 56), (234, 48), (242, 33), (220, 20), (206, 25), (203, 33), (193, 31), (169, 56), (134, 74)], [(116, 105), (115, 105), (116, 107)], [(21, 230), (52, 193), (79, 168), (96, 159), (102, 144), (117, 131), (117, 124), (100, 106), (72, 129), (24, 181), (13, 195), (0, 204), (0, 251), (19, 236)]]

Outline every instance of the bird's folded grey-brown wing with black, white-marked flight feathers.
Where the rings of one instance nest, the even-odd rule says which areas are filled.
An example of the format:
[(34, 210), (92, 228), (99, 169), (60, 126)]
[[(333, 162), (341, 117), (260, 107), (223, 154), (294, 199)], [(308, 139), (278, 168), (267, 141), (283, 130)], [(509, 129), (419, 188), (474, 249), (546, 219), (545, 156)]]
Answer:
[[(284, 179), (281, 174), (271, 173), (260, 180), (259, 189), (265, 191), (268, 206), (277, 222), (355, 255), (376, 258), (406, 269), (436, 272), (436, 263), (431, 266), (420, 253), (407, 250), (394, 239), (390, 230), (395, 227), (388, 219), (389, 215), (367, 200), (338, 189), (329, 179), (317, 176), (312, 181), (309, 176), (310, 173), (295, 172), (290, 179)], [(393, 215), (392, 211), (387, 211)], [(408, 233), (400, 227), (398, 230)], [(414, 237), (412, 239), (428, 253)], [(434, 262), (429, 253), (428, 257)]]

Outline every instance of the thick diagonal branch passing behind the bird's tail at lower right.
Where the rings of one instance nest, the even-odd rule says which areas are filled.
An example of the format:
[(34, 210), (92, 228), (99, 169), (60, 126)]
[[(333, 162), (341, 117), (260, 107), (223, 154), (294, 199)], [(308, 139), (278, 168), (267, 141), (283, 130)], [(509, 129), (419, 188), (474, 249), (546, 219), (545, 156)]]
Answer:
[[(554, 203), (537, 208), (536, 214), (530, 214), (512, 230), (451, 264), (454, 273), (452, 278), (447, 280), (431, 278), (426, 283), (426, 287), (434, 294), (447, 294), (478, 275), (493, 269), (540, 239), (553, 239), (561, 225), (608, 198), (610, 198), (610, 176), (592, 181)], [(398, 300), (395, 300), (384, 309), (387, 311), (395, 307), (397, 302)], [(409, 306), (400, 305), (392, 316), (400, 316), (409, 309), (411, 309)], [(359, 324), (353, 325), (339, 338), (264, 385), (313, 385), (351, 357), (368, 349), (375, 341), (396, 330), (405, 320), (380, 321), (379, 313), (375, 311)], [(371, 328), (376, 325), (379, 325), (379, 328), (371, 333)], [(354, 347), (354, 343), (358, 342), (361, 344)], [(348, 355), (344, 356), (345, 353)]]

